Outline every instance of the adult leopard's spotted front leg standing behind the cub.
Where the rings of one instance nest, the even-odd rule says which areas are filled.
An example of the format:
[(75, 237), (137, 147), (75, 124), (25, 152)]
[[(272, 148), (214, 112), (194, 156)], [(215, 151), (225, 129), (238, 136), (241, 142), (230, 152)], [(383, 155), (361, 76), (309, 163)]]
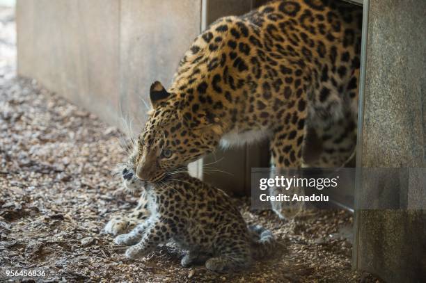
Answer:
[[(301, 111), (298, 114), (297, 118), (292, 118), (287, 125), (278, 127), (271, 139), (271, 162), (274, 167), (274, 170), (271, 170), (271, 178), (281, 175), (290, 178), (293, 175), (290, 176), (286, 169), (297, 170), (301, 168), (302, 147), (306, 131), (306, 112)], [(303, 188), (292, 187), (285, 190), (283, 187), (273, 186), (269, 188), (269, 193), (270, 195), (281, 193), (289, 195), (290, 201), (271, 202), (272, 210), (283, 220), (294, 218), (305, 207), (304, 202), (292, 202), (294, 194), (304, 195)]]

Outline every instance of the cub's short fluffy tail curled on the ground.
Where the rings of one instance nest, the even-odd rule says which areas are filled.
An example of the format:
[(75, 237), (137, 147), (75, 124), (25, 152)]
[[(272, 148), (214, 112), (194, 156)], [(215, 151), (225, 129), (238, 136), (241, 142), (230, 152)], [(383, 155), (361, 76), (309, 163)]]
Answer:
[(271, 230), (260, 225), (249, 225), (248, 229), (253, 239), (251, 243), (253, 259), (262, 259), (271, 255), (276, 246), (276, 240)]

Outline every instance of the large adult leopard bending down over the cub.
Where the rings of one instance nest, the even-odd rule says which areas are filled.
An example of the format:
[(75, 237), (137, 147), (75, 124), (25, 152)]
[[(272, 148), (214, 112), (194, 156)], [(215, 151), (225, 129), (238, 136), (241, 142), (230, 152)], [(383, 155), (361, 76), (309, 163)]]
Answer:
[(337, 0), (271, 1), (214, 22), (170, 88), (152, 84), (136, 176), (155, 183), (220, 143), (262, 138), (273, 165), (300, 168), (308, 131), (322, 144), (308, 165), (341, 165), (356, 142), (361, 22), (361, 8)]

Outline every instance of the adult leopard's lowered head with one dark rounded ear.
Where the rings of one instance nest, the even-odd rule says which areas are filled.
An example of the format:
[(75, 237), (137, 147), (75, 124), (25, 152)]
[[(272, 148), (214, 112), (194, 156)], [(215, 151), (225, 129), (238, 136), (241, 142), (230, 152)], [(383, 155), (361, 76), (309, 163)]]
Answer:
[(213, 152), (221, 138), (219, 118), (188, 92), (150, 88), (152, 110), (137, 140), (136, 177), (157, 182)]

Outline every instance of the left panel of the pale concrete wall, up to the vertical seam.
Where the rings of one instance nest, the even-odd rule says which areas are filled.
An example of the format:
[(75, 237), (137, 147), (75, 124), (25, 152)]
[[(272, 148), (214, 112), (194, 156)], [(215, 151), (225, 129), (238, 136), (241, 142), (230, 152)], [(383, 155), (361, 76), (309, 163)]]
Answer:
[(19, 0), (16, 15), (18, 74), (115, 122), (120, 1)]

